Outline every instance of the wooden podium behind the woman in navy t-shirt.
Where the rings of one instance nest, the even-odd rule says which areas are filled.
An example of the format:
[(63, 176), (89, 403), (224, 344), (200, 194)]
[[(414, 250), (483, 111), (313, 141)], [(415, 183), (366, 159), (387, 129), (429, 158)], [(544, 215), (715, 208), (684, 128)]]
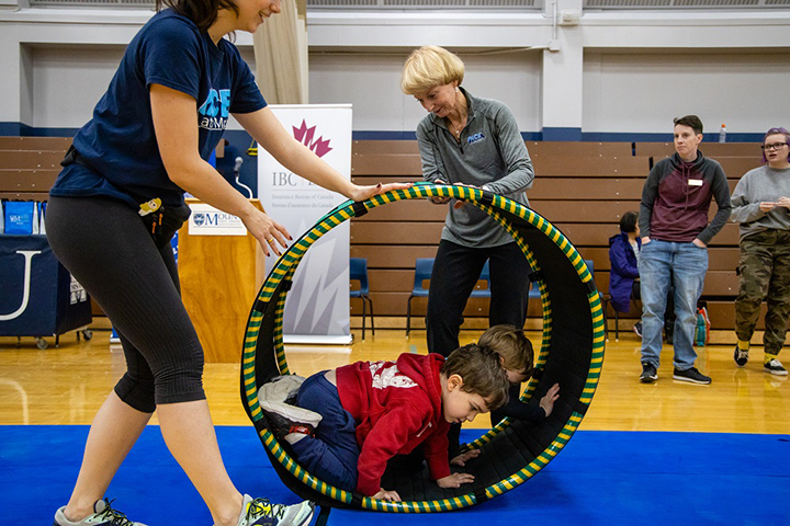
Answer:
[[(250, 199), (262, 209), (258, 199)], [(201, 203), (187, 199), (188, 205)], [(206, 363), (239, 363), (252, 301), (263, 283), (263, 251), (246, 236), (179, 231), (181, 297), (203, 345)]]

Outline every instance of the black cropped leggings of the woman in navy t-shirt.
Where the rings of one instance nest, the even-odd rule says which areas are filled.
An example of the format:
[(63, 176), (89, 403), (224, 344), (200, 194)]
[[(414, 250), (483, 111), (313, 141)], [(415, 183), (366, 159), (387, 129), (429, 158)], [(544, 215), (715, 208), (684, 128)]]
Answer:
[(155, 237), (128, 205), (106, 197), (50, 197), (53, 252), (101, 306), (119, 333), (126, 374), (115, 386), (132, 408), (204, 400), (203, 348), (181, 301), (170, 238)]

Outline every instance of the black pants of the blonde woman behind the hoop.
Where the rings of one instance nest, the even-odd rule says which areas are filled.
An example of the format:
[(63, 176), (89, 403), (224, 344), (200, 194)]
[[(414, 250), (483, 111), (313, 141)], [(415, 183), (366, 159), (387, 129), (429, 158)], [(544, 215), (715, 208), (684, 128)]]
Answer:
[(428, 351), (448, 356), (459, 347), (463, 310), (489, 260), (490, 307), (488, 324), (523, 328), (529, 300), (530, 266), (518, 244), (471, 249), (441, 240), (428, 295), (426, 329)]

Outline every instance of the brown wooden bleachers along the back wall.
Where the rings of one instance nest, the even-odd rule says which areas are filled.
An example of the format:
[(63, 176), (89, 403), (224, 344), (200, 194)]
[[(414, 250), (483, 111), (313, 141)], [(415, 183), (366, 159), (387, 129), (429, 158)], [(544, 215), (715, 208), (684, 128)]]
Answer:
[[(0, 197), (46, 199), (59, 171), (58, 163), (71, 144), (59, 137), (0, 137)], [(528, 195), (531, 206), (552, 221), (595, 263), (598, 289), (609, 287), (609, 237), (617, 233), (620, 216), (637, 210), (642, 185), (653, 162), (670, 155), (664, 142), (534, 142), (527, 147), (535, 167)], [(759, 165), (756, 144), (707, 144), (701, 150), (724, 168), (731, 190), (749, 169)], [(360, 184), (419, 181), (421, 169), (416, 141), (354, 141), (352, 178)], [(711, 217), (714, 206), (711, 206)], [(380, 328), (405, 328), (406, 300), (417, 258), (433, 258), (447, 206), (416, 201), (376, 208), (351, 221), (351, 256), (366, 258), (371, 297)], [(702, 299), (713, 329), (732, 329), (733, 299), (737, 294), (737, 225), (727, 224), (710, 247), (710, 267)], [(421, 309), (421, 310), (420, 310)], [(422, 327), (424, 306), (415, 306), (414, 327)], [(464, 327), (483, 328), (487, 299), (471, 298)], [(360, 316), (361, 307), (352, 306)], [(528, 316), (539, 327), (540, 306), (532, 301)], [(630, 327), (639, 312), (621, 316)], [(613, 322), (613, 321), (611, 321)], [(758, 328), (761, 329), (761, 318)]]

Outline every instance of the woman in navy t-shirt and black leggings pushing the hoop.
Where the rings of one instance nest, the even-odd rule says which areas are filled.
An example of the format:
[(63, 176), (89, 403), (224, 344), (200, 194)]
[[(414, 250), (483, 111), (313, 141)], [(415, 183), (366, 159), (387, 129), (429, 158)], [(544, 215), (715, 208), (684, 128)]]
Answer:
[(280, 12), (279, 0), (158, 0), (157, 8), (75, 137), (47, 208), (53, 251), (112, 321), (127, 364), (93, 420), (77, 484), (55, 524), (138, 524), (113, 518), (117, 512), (103, 498), (155, 410), (215, 524), (306, 524), (311, 503), (252, 501), (225, 471), (203, 391), (203, 350), (180, 298), (170, 238), (189, 217), (185, 191), (238, 216), (267, 254), (280, 254), (292, 239), (206, 162), (230, 114), (289, 170), (348, 198), (405, 185), (351, 184), (267, 107), (224, 36), (255, 32)]

